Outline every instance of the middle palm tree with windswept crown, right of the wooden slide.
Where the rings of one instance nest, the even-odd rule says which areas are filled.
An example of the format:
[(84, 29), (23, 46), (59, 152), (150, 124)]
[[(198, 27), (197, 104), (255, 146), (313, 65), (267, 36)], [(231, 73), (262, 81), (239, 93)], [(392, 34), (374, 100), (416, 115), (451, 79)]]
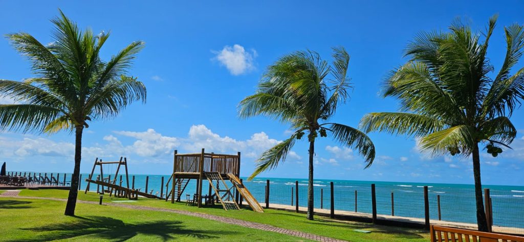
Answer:
[[(286, 159), (294, 142), (308, 133), (309, 183), (308, 219), (313, 219), (313, 155), (315, 139), (326, 137), (327, 131), (336, 141), (358, 150), (365, 157), (366, 168), (375, 159), (373, 142), (361, 131), (337, 123), (323, 123), (330, 119), (336, 108), (345, 103), (350, 87), (346, 77), (350, 56), (342, 47), (333, 48), (333, 64), (322, 60), (318, 53), (297, 51), (270, 65), (258, 84), (254, 95), (239, 103), (243, 118), (263, 115), (291, 124), (291, 137), (263, 152), (249, 179), (268, 169), (274, 169)], [(328, 75), (329, 78), (328, 78)], [(331, 79), (330, 79), (331, 78)], [(329, 81), (328, 81), (329, 80)]]

